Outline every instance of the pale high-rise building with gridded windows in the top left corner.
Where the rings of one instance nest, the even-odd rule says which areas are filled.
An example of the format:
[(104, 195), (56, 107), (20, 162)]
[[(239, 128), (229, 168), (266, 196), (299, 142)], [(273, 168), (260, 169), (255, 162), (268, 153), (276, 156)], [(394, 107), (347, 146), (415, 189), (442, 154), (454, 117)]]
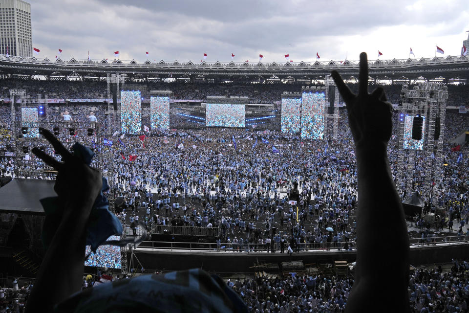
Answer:
[(0, 54), (33, 56), (31, 4), (0, 0)]

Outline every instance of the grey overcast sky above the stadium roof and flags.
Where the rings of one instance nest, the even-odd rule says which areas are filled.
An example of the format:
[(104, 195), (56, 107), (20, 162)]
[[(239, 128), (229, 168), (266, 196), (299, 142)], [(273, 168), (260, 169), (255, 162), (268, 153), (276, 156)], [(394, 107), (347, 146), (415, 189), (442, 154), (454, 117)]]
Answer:
[[(468, 0), (40, 0), (30, 1), (39, 57), (263, 62), (459, 55)], [(355, 4), (354, 2), (360, 3)], [(145, 52), (149, 52), (149, 56)], [(441, 54), (438, 54), (441, 56)]]

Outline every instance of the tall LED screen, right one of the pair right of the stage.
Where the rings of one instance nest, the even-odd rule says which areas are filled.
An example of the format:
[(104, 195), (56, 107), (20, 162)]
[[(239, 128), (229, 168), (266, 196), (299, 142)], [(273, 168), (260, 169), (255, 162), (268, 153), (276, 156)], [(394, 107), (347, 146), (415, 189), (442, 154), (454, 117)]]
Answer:
[(301, 138), (323, 139), (324, 93), (303, 92), (301, 101)]

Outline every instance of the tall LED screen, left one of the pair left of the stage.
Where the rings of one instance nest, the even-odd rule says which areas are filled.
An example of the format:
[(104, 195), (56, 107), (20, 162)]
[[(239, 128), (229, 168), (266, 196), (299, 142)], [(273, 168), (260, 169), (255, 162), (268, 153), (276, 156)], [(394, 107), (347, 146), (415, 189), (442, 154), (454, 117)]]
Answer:
[(123, 134), (140, 134), (142, 125), (140, 91), (121, 91), (121, 129)]

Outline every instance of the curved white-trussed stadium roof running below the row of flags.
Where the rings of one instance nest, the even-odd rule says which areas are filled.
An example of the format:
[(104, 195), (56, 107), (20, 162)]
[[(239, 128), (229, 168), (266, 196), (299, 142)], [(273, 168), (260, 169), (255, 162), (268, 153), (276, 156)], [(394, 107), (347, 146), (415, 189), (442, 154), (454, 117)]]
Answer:
[[(125, 61), (24, 58), (0, 56), (0, 74), (43, 75), (46, 77), (71, 76), (105, 77), (106, 74), (126, 74), (142, 79), (162, 78), (263, 78), (263, 79), (322, 79), (332, 70), (347, 78), (358, 76), (359, 61), (316, 61), (286, 63), (221, 63), (179, 61)], [(369, 75), (374, 79), (463, 79), (469, 78), (469, 58), (447, 56), (420, 59), (370, 60)]]

